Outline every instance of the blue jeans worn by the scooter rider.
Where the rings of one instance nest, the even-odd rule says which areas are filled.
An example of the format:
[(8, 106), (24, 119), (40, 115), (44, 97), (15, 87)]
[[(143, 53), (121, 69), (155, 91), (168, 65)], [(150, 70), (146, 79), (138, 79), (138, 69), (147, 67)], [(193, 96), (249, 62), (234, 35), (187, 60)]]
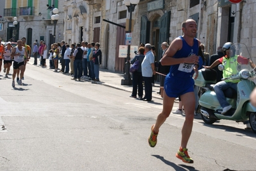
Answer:
[(226, 106), (230, 105), (226, 101), (226, 97), (223, 93), (223, 91), (228, 88), (233, 88), (235, 91), (237, 91), (237, 83), (219, 81), (216, 85), (214, 85), (214, 92), (216, 93), (217, 99), (219, 101), (219, 104), (221, 104), (222, 108), (225, 108)]

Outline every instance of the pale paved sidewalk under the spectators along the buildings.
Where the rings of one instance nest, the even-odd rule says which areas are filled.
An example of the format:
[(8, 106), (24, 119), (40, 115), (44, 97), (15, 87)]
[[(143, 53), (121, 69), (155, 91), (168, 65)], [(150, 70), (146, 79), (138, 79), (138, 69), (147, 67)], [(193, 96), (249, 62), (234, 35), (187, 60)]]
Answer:
[[(31, 57), (31, 60), (28, 61), (28, 64), (33, 65), (33, 57)], [(38, 60), (37, 63), (40, 63), (40, 61)], [(48, 69), (48, 70), (53, 70), (53, 69), (49, 69), (49, 60), (46, 60), (46, 68), (42, 68), (42, 69)], [(38, 65), (35, 65), (35, 67), (40, 67)], [(60, 63), (58, 65), (59, 69), (60, 69)], [(59, 70), (58, 70), (59, 71)], [(69, 76), (69, 74), (66, 74), (67, 76)], [(105, 86), (109, 86), (112, 88), (116, 88), (118, 90), (124, 90), (126, 92), (130, 92), (130, 94), (132, 94), (132, 85), (130, 86), (126, 86), (126, 85), (121, 85), (121, 79), (123, 79), (124, 74), (118, 73), (118, 72), (112, 72), (110, 70), (107, 69), (99, 69), (99, 82), (95, 82), (95, 81), (91, 81), (89, 79), (83, 79), (84, 81), (90, 81), (92, 83), (96, 83), (96, 84), (101, 84), (101, 85), (105, 85)], [(159, 83), (156, 82), (155, 86), (152, 87), (152, 99), (157, 98), (157, 99), (162, 99), (161, 95), (157, 94), (157, 92), (159, 92)], [(144, 91), (143, 91), (144, 93)]]

